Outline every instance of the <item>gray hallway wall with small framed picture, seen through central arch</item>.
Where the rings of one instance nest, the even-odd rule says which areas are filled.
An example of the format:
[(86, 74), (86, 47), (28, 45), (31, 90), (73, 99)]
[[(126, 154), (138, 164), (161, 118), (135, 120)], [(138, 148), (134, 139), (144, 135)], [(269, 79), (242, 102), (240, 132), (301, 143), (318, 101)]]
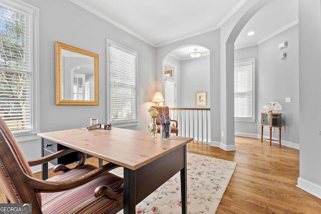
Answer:
[[(183, 108), (209, 108), (210, 96), (210, 56), (181, 62), (181, 105)], [(196, 106), (195, 92), (207, 92), (207, 106)]]

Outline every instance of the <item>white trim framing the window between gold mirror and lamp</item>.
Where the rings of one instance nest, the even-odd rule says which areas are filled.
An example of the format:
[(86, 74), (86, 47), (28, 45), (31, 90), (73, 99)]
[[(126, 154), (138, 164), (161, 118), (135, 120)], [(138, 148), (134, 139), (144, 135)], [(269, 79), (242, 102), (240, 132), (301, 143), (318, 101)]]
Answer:
[[(136, 120), (131, 120), (131, 121), (116, 121), (116, 122), (110, 122), (111, 118), (110, 118), (110, 109), (111, 109), (111, 105), (110, 105), (110, 74), (109, 74), (109, 47), (110, 47), (110, 44), (113, 44), (113, 45), (116, 45), (118, 47), (121, 48), (122, 51), (124, 52), (128, 52), (128, 53), (135, 53), (136, 54), (136, 72), (135, 72), (135, 78), (136, 78), (136, 94), (135, 94), (135, 100), (136, 100), (136, 103), (135, 103), (135, 115), (136, 115)], [(129, 49), (123, 45), (120, 45), (119, 43), (116, 43), (116, 42), (113, 42), (112, 40), (109, 40), (109, 39), (106, 39), (106, 50), (107, 50), (107, 106), (108, 106), (108, 109), (107, 109), (107, 123), (110, 123), (112, 124), (113, 127), (116, 127), (116, 128), (120, 128), (120, 127), (127, 127), (127, 126), (134, 126), (134, 125), (138, 125), (138, 91), (137, 91), (137, 86), (138, 86), (138, 54), (136, 51), (132, 50), (132, 49)]]

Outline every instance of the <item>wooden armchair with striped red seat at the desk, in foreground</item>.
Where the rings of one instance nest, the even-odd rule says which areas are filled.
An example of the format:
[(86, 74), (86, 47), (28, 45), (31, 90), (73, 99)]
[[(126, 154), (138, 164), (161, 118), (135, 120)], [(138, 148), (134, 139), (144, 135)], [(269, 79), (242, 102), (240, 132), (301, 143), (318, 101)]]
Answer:
[(123, 179), (108, 171), (113, 163), (99, 168), (84, 164), (86, 155), (72, 169), (57, 165), (64, 172), (47, 180), (37, 179), (30, 166), (42, 164), (70, 152), (27, 161), (15, 137), (0, 118), (0, 187), (8, 202), (32, 203), (33, 213), (116, 213), (123, 208)]

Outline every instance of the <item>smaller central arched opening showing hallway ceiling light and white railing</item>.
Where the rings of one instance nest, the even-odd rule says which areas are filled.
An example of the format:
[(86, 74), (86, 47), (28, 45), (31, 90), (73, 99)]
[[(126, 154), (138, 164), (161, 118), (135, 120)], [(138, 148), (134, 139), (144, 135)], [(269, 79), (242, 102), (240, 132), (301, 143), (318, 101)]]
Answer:
[[(202, 54), (198, 58), (190, 56), (195, 49)], [(210, 50), (195, 44), (176, 48), (163, 59), (162, 77), (163, 105), (178, 108), (171, 110), (170, 114), (172, 119), (178, 120), (179, 136), (194, 137), (199, 142), (209, 143), (211, 124), (209, 119), (205, 121), (207, 118), (201, 118), (201, 112), (196, 110), (199, 107), (196, 96), (199, 92), (205, 92), (206, 104), (202, 107), (210, 107)]]

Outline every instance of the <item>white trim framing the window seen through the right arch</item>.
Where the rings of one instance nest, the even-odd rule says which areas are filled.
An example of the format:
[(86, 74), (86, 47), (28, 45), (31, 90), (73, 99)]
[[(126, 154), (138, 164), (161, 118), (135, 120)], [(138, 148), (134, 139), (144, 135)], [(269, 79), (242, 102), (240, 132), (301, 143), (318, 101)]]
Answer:
[(246, 60), (240, 60), (240, 61), (235, 61), (234, 62), (234, 67), (235, 66), (241, 66), (241, 65), (247, 65), (251, 62), (252, 64), (252, 86), (253, 86), (253, 93), (252, 93), (252, 118), (234, 118), (234, 121), (237, 122), (255, 122), (256, 118), (256, 112), (255, 112), (255, 58), (251, 59), (246, 59)]

